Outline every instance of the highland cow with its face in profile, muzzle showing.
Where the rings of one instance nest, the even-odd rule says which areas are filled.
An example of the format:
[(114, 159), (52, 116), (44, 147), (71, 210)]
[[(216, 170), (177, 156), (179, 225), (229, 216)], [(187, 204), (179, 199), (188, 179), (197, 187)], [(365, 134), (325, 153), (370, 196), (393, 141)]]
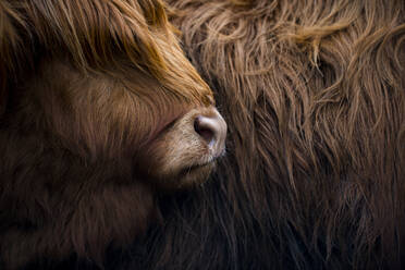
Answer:
[(226, 125), (159, 0), (0, 1), (0, 268), (103, 267)]

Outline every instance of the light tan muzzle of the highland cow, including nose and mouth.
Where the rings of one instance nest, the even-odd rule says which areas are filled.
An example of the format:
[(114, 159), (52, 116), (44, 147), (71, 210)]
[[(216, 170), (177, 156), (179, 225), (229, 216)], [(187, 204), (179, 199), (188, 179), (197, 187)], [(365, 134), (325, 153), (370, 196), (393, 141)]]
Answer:
[[(202, 183), (225, 152), (226, 123), (214, 107), (188, 111), (160, 137), (160, 161), (149, 170), (168, 188)], [(155, 174), (154, 172), (157, 172)]]

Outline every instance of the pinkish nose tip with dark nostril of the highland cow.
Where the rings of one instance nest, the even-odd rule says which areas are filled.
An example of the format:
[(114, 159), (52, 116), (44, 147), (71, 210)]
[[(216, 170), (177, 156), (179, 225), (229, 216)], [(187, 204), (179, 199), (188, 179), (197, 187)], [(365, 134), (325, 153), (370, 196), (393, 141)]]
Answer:
[(209, 115), (197, 115), (194, 120), (194, 130), (207, 142), (214, 157), (223, 154), (225, 149), (226, 123), (217, 110)]

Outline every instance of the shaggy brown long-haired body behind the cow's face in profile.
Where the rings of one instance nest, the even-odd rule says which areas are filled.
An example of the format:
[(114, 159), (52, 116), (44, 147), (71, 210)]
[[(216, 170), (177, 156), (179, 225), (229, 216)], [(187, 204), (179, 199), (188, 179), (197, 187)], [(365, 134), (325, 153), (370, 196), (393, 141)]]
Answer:
[(405, 2), (168, 2), (228, 156), (134, 269), (403, 269)]

